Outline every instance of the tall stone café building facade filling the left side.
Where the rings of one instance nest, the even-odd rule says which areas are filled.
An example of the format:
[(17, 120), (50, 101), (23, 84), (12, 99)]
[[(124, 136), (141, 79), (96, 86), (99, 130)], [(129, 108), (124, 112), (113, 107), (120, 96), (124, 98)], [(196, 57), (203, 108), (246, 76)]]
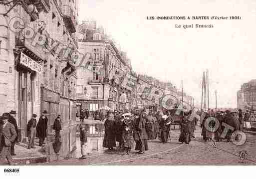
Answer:
[[(7, 16), (0, 15), (0, 113), (17, 112), (21, 141), (26, 139), (26, 124), (32, 114), (38, 120), (43, 110), (48, 112), (49, 135), (60, 114), (63, 122), (60, 153), (67, 154), (75, 147), (77, 77), (75, 68), (67, 62), (70, 55), (65, 58), (63, 49), (68, 45), (72, 50), (77, 49), (78, 2), (24, 0), (21, 3)], [(6, 12), (3, 4), (0, 11)], [(54, 41), (59, 44), (54, 46)]]

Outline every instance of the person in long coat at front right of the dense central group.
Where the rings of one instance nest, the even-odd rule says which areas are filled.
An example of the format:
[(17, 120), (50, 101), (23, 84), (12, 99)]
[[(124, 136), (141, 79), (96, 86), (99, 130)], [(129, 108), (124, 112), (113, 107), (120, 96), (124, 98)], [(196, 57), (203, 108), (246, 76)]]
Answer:
[(136, 141), (135, 150), (139, 151), (138, 154), (144, 154), (145, 151), (148, 151), (148, 135), (145, 129), (146, 114), (142, 112), (135, 123), (135, 132), (134, 132), (134, 139)]

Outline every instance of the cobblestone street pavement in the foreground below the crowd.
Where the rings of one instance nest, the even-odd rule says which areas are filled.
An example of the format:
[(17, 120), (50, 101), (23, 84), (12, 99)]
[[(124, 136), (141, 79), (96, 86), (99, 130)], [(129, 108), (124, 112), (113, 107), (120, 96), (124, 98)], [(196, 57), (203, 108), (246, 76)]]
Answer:
[[(179, 130), (172, 130), (172, 140), (167, 144), (158, 140), (149, 141), (149, 151), (144, 155), (135, 151), (129, 156), (103, 152), (92, 154), (86, 160), (69, 159), (43, 165), (256, 165), (256, 136), (247, 134), (248, 142), (242, 146), (225, 140), (216, 143), (213, 148), (213, 142), (202, 140), (199, 127), (195, 132), (196, 138), (189, 145), (178, 142), (179, 134)], [(243, 150), (248, 153), (248, 160), (244, 162), (239, 158), (239, 152)]]

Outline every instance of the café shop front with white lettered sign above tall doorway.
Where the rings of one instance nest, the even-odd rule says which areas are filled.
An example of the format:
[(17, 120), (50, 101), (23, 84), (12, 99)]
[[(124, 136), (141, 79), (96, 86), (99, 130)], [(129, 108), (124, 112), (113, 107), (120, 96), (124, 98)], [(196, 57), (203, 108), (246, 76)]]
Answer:
[(41, 59), (30, 51), (20, 51), (15, 55), (15, 70), (17, 71), (18, 112), (17, 125), (19, 127), (18, 140), (25, 140), (26, 125), (32, 114), (38, 115), (39, 75), (42, 72)]

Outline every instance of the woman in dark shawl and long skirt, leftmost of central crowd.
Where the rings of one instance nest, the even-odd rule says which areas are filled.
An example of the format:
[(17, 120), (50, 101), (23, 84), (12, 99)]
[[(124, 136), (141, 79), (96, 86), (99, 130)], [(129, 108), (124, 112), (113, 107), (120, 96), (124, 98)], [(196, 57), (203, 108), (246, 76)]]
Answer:
[(113, 113), (109, 114), (109, 117), (104, 123), (105, 134), (103, 139), (103, 147), (108, 148), (108, 151), (113, 150), (113, 147), (116, 147), (116, 138), (115, 138), (115, 120)]

